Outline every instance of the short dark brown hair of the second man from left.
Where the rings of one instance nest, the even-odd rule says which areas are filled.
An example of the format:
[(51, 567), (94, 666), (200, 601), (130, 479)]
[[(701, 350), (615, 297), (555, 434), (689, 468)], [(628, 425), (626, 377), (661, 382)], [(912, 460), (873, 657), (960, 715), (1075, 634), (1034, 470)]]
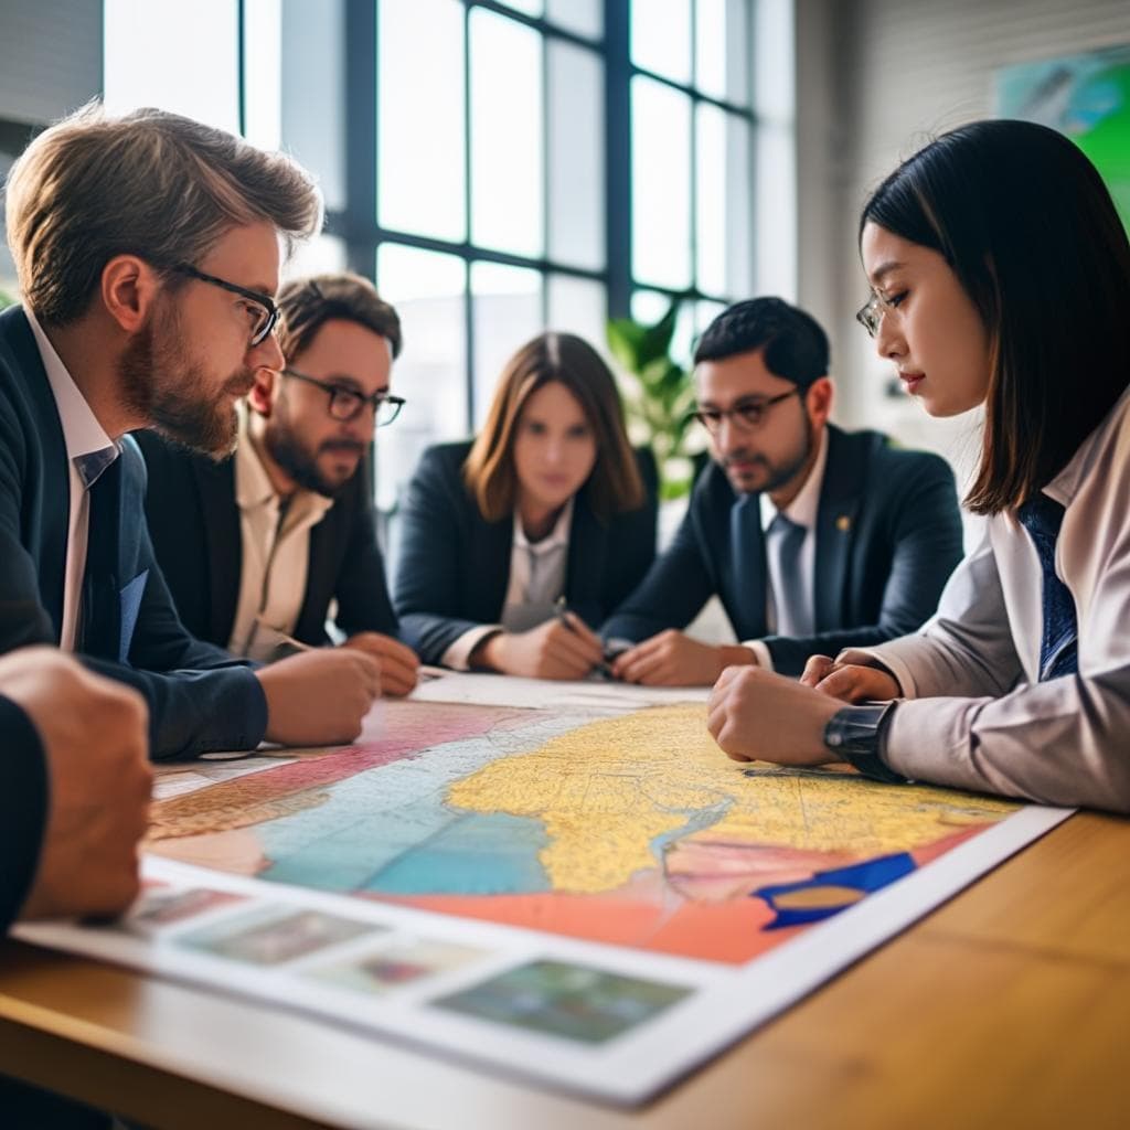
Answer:
[(295, 279), (279, 292), (279, 348), (293, 362), (329, 321), (356, 322), (389, 339), (400, 356), (400, 318), (366, 278), (348, 272)]

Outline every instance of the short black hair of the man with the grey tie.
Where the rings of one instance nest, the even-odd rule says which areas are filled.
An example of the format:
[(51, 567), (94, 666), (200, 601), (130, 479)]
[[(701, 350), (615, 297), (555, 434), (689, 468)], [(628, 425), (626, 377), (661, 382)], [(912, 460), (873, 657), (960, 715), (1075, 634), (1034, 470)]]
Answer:
[(698, 339), (695, 364), (763, 347), (766, 368), (801, 389), (827, 376), (828, 336), (783, 298), (749, 298), (723, 310)]

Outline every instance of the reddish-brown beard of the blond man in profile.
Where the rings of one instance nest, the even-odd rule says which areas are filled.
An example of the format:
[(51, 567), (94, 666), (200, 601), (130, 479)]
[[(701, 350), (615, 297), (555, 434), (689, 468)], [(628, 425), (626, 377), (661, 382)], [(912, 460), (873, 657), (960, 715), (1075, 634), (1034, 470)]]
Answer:
[[(156, 340), (154, 323), (167, 327)], [(180, 320), (171, 306), (154, 310), (145, 327), (125, 347), (118, 363), (122, 402), (145, 426), (223, 459), (235, 451), (237, 417), (233, 395), (244, 395), (254, 381), (244, 366), (233, 373), (218, 392), (201, 365), (189, 357)]]

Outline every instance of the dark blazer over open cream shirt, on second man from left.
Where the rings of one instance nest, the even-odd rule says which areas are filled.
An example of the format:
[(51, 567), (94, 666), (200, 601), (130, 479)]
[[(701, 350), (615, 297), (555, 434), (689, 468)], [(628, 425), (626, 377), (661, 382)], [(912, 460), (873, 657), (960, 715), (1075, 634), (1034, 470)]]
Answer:
[[(243, 571), (235, 460), (218, 463), (153, 432), (138, 432), (134, 438), (149, 471), (149, 536), (176, 610), (194, 636), (226, 647)], [(307, 560), (295, 638), (315, 647), (329, 643), (325, 617), (334, 599), (334, 623), (346, 635), (398, 634), (376, 542), (367, 461), (311, 529)]]

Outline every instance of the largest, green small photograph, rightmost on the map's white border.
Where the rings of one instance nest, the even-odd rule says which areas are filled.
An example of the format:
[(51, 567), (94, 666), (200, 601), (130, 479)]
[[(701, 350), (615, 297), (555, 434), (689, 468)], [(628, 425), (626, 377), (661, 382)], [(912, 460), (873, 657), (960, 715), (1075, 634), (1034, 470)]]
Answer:
[(531, 962), (433, 1001), (484, 1020), (599, 1044), (651, 1019), (694, 992), (563, 962)]

